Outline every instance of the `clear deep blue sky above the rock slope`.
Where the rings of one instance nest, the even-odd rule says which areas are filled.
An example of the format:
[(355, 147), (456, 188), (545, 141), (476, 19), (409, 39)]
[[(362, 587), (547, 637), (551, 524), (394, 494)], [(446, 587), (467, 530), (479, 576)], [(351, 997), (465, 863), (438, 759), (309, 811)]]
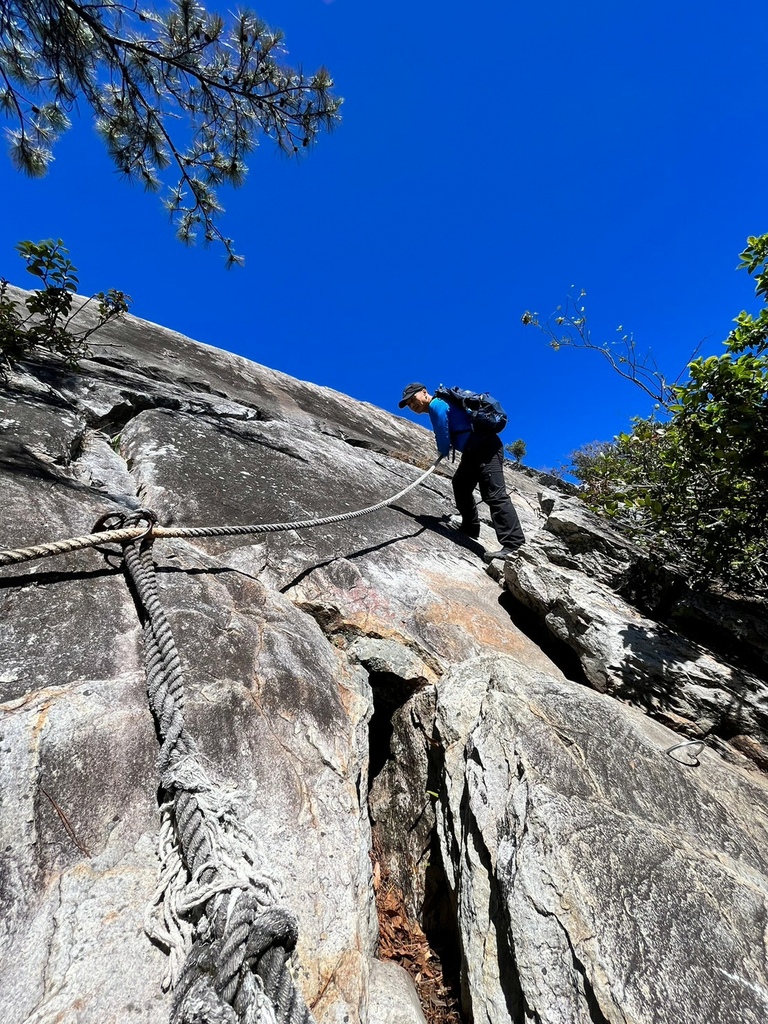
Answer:
[(0, 274), (31, 285), (14, 244), (60, 237), (81, 291), (123, 289), (138, 316), (393, 412), (412, 380), (487, 389), (538, 468), (650, 402), (523, 310), (584, 288), (596, 337), (624, 325), (674, 376), (759, 308), (734, 268), (768, 230), (768, 5), (251, 6), (345, 102), (301, 162), (264, 143), (222, 194), (246, 266), (177, 243), (83, 110), (47, 178), (0, 163)]

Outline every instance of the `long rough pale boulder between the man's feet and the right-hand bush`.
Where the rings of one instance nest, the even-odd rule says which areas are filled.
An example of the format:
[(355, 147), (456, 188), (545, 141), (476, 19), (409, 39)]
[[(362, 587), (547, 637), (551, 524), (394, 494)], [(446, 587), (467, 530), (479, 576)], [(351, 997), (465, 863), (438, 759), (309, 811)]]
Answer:
[(507, 587), (577, 653), (596, 689), (706, 738), (736, 760), (741, 750), (768, 766), (768, 683), (643, 615), (596, 579), (615, 582), (615, 565), (627, 550), (617, 546), (613, 567), (587, 574), (572, 560), (568, 564), (563, 545), (545, 529), (507, 563)]

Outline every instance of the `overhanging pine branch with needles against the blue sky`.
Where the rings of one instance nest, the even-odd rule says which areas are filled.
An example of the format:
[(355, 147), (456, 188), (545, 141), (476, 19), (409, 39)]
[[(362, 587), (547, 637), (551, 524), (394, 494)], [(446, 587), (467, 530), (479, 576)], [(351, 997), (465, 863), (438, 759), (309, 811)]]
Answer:
[[(248, 11), (227, 27), (197, 0), (172, 0), (165, 16), (113, 0), (0, 2), (0, 81), (6, 116), (18, 124), (16, 165), (45, 173), (51, 144), (69, 127), (65, 112), (82, 95), (124, 174), (155, 190), (175, 166), (166, 206), (179, 236), (194, 241), (200, 224), (229, 263), (238, 258), (216, 224), (217, 188), (245, 180), (260, 135), (293, 155), (338, 120), (341, 100), (325, 69), (305, 77), (278, 65), (281, 34)], [(145, 29), (133, 34), (137, 19)], [(14, 80), (49, 101), (38, 109)]]

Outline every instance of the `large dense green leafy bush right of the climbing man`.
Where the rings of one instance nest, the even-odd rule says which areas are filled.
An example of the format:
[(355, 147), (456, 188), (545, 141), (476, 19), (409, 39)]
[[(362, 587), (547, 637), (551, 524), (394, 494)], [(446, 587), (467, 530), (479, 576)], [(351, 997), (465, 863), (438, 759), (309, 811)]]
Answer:
[[(768, 234), (740, 267), (768, 299)], [(768, 309), (741, 312), (726, 352), (688, 365), (655, 415), (573, 453), (583, 497), (698, 585), (768, 593)]]

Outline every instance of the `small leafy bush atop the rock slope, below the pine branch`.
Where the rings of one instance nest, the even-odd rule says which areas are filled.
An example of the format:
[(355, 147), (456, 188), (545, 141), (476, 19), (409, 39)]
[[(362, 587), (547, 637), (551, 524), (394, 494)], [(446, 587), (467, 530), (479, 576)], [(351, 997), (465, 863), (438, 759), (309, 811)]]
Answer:
[[(77, 268), (61, 240), (19, 242), (16, 249), (27, 262), (28, 272), (42, 287), (20, 303), (10, 297), (8, 282), (0, 280), (0, 356), (12, 362), (39, 346), (62, 355), (70, 366), (77, 366), (78, 359), (89, 354), (90, 336), (127, 312), (129, 296), (111, 289), (73, 309)], [(77, 327), (76, 318), (91, 302), (96, 304), (96, 322), (90, 327)]]

